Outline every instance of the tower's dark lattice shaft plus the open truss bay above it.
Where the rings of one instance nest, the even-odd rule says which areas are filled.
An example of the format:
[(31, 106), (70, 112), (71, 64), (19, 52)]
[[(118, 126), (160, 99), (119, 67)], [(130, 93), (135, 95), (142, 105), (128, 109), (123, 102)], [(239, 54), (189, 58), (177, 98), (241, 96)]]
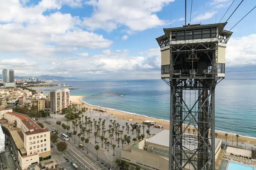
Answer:
[[(207, 69), (199, 71), (202, 58)], [(179, 68), (177, 60), (187, 68)], [(171, 87), (169, 170), (215, 169), (215, 86), (222, 80), (217, 74), (218, 39), (170, 45), (170, 77), (163, 79)], [(192, 103), (186, 97), (191, 92)], [(191, 126), (195, 135), (185, 134)]]

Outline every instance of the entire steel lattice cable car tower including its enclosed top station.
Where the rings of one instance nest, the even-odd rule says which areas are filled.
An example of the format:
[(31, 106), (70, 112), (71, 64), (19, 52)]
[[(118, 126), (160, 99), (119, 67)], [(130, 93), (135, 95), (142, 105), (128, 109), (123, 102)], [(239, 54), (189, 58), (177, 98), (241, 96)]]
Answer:
[[(215, 169), (215, 87), (225, 78), (227, 23), (163, 29), (161, 78), (171, 87), (169, 170)], [(193, 134), (185, 134), (195, 129)]]

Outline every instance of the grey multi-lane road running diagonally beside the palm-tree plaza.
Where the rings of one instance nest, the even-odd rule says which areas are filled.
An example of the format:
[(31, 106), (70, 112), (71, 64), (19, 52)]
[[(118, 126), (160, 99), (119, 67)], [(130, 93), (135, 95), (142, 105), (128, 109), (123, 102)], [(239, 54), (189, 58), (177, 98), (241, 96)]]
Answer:
[[(44, 123), (44, 126), (51, 131), (55, 129), (52, 126), (47, 125), (46, 123)], [(58, 140), (64, 141), (60, 137), (60, 135)], [(73, 143), (70, 144), (69, 142), (67, 142), (67, 144), (68, 144), (67, 150), (66, 150), (67, 158), (69, 158), (70, 161), (75, 162), (75, 164), (79, 166), (79, 169), (84, 169), (84, 167), (86, 166), (88, 170), (100, 170), (100, 169), (107, 170), (107, 168), (104, 168), (102, 165), (100, 165), (98, 162), (94, 161), (93, 159), (89, 159), (85, 157), (84, 155), (85, 152), (83, 152), (80, 149), (76, 149)]]

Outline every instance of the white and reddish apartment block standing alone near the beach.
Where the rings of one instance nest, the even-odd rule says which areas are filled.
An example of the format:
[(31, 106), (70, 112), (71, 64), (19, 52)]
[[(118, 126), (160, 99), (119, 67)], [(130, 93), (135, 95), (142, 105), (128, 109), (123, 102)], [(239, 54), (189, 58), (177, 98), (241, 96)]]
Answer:
[(69, 89), (50, 91), (50, 110), (52, 113), (61, 113), (62, 109), (67, 108), (69, 104)]

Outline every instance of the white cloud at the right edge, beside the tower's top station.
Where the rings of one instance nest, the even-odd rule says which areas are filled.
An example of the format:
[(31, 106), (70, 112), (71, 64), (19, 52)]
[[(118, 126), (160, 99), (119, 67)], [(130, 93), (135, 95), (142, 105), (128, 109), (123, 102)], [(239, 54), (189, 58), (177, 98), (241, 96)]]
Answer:
[(226, 48), (226, 65), (255, 65), (256, 68), (256, 34), (241, 38), (230, 38)]

